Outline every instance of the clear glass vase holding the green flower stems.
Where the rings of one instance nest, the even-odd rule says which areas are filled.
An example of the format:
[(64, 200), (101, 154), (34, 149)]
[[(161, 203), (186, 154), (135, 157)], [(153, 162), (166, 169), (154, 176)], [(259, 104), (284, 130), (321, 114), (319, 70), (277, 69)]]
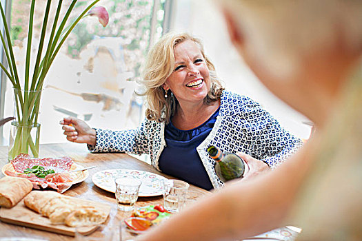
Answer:
[(41, 125), (39, 116), (41, 90), (24, 91), (14, 88), (14, 116), (10, 126), (8, 160), (19, 154), (39, 157)]

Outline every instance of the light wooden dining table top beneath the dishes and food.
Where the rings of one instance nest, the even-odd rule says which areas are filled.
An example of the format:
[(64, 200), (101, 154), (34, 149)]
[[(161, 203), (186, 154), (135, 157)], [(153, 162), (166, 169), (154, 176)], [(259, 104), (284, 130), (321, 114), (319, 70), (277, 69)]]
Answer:
[[(97, 202), (103, 202), (112, 207), (110, 212), (110, 218), (108, 218), (108, 225), (119, 225), (119, 221), (127, 216), (130, 216), (130, 213), (125, 213), (117, 209), (116, 199), (114, 193), (104, 191), (99, 187), (95, 186), (92, 182), (92, 175), (97, 171), (106, 170), (106, 169), (137, 169), (141, 171), (150, 171), (154, 174), (159, 174), (165, 176), (166, 178), (172, 178), (165, 174), (160, 173), (148, 163), (145, 163), (137, 158), (129, 156), (128, 154), (116, 154), (116, 153), (106, 153), (106, 154), (90, 154), (86, 145), (76, 144), (76, 143), (61, 143), (61, 144), (46, 144), (41, 145), (40, 147), (40, 157), (61, 157), (61, 156), (70, 156), (75, 163), (82, 165), (84, 167), (97, 165), (97, 168), (90, 169), (89, 177), (83, 182), (72, 186), (68, 191), (64, 193), (66, 196), (74, 196), (77, 198), (82, 198), (86, 200), (94, 200)], [(0, 167), (8, 163), (8, 147), (0, 147)], [(1, 177), (3, 174), (0, 174)], [(209, 193), (204, 189), (190, 185), (190, 190), (200, 193), (200, 196), (205, 193)], [(137, 207), (143, 207), (147, 205), (163, 204), (162, 196), (149, 197), (149, 198), (139, 198), (137, 200)], [(39, 231), (37, 229), (30, 229), (26, 227), (21, 227), (13, 224), (7, 224), (5, 222), (0, 222), (0, 237), (3, 236), (23, 236), (28, 238), (46, 238), (48, 240), (74, 240), (74, 238), (66, 235), (61, 235), (57, 233), (50, 233), (47, 231)]]

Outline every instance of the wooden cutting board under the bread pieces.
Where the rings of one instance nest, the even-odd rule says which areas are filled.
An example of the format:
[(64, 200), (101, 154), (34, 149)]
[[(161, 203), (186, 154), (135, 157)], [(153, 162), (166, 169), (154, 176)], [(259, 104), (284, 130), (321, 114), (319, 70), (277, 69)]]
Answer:
[[(84, 205), (92, 205), (97, 209), (101, 209), (110, 214), (110, 206), (105, 205), (101, 202), (94, 202), (90, 200), (81, 200), (80, 202), (84, 202)], [(24, 201), (21, 200), (16, 206), (11, 209), (1, 208), (0, 209), (0, 220), (3, 222), (8, 222), (11, 224), (16, 224), (24, 227), (30, 227), (34, 229), (41, 229), (44, 231), (50, 231), (53, 233), (61, 233), (64, 235), (75, 235), (75, 228), (68, 227), (65, 224), (51, 224), (50, 220), (44, 216), (41, 216), (39, 213), (28, 209), (26, 205), (24, 205)], [(81, 233), (88, 235), (97, 229), (97, 226), (92, 227), (82, 227)]]

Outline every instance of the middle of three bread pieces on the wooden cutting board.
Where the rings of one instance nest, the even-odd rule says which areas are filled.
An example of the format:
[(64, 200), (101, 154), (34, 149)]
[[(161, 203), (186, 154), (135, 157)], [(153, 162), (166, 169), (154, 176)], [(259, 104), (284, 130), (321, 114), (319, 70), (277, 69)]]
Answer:
[(57, 191), (32, 191), (24, 198), (26, 207), (41, 213), (41, 209), (52, 200), (54, 197), (59, 197), (61, 194)]

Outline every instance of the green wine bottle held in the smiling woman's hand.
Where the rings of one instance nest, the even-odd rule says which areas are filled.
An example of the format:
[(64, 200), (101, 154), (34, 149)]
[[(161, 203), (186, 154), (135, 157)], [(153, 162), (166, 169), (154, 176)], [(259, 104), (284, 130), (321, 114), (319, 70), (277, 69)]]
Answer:
[(219, 148), (213, 145), (208, 147), (207, 151), (209, 156), (216, 161), (215, 171), (223, 182), (234, 178), (242, 178), (245, 169), (248, 169), (245, 161), (236, 154), (222, 153)]

